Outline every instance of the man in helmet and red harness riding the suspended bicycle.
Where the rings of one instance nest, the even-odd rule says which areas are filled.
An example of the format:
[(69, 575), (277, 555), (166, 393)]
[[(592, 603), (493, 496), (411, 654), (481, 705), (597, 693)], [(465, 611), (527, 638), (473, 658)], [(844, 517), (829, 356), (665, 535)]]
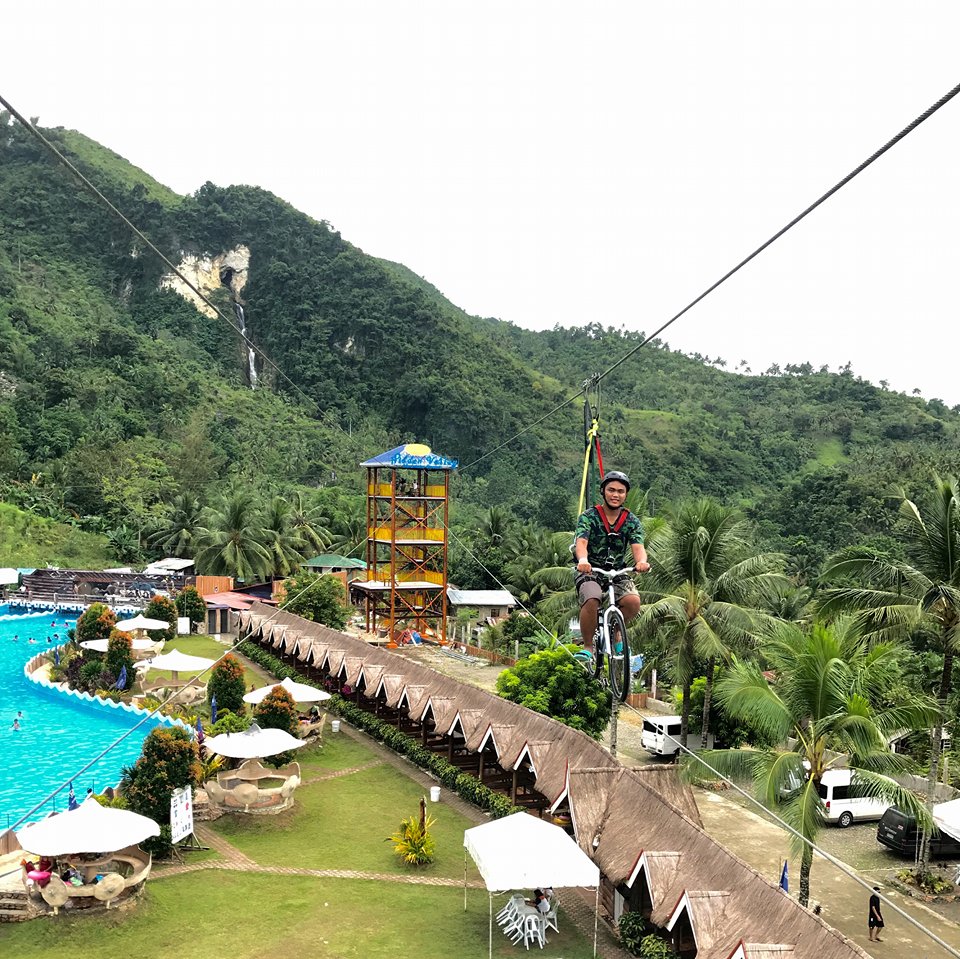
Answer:
[[(630, 478), (626, 473), (611, 470), (600, 481), (602, 502), (584, 510), (577, 520), (573, 555), (576, 561), (574, 584), (580, 600), (580, 635), (583, 648), (593, 652), (593, 636), (600, 616), (603, 588), (593, 567), (622, 569), (632, 554), (633, 568), (638, 573), (650, 569), (647, 551), (643, 545), (643, 524), (624, 505), (630, 492)], [(615, 585), (617, 606), (629, 623), (640, 612), (640, 596), (633, 580), (623, 579)]]

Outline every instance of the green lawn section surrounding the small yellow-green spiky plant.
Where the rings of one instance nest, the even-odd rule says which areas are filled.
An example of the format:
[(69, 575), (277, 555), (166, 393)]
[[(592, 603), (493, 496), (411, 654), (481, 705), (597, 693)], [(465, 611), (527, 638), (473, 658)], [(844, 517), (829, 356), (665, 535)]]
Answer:
[[(301, 786), (292, 809), (277, 816), (224, 816), (211, 828), (264, 866), (359, 869), (404, 875), (385, 842), (400, 820), (418, 814), (426, 790), (393, 766), (375, 766)], [(420, 872), (463, 877), (463, 831), (472, 825), (443, 802), (427, 802), (435, 817), (436, 858)], [(469, 875), (479, 879), (470, 864)]]

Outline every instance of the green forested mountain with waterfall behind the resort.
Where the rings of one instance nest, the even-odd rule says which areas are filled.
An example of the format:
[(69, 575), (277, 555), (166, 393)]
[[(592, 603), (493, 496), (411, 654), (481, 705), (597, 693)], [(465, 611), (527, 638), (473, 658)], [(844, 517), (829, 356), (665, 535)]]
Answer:
[[(214, 263), (211, 280), (230, 322), (204, 315), (0, 117), (0, 495), (35, 512), (140, 538), (176, 495), (231, 482), (358, 494), (357, 463), (408, 439), (472, 464), (640, 342), (470, 316), (264, 190), (207, 183), (181, 197), (82, 134), (45, 132), (173, 262), (249, 250), (235, 295), (270, 362), (251, 389), (233, 267)], [(655, 505), (693, 493), (738, 504), (801, 570), (887, 534), (891, 484), (958, 466), (956, 410), (802, 358), (752, 376), (653, 343), (604, 379), (600, 402), (608, 463)], [(470, 466), (458, 521), (498, 505), (569, 528), (581, 423), (574, 403)]]

